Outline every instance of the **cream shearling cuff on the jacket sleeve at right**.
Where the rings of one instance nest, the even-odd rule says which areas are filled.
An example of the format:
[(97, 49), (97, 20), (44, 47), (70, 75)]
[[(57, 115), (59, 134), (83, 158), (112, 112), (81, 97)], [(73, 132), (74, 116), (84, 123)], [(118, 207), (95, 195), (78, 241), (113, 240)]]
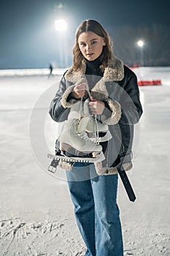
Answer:
[(112, 111), (112, 116), (107, 118), (103, 123), (108, 125), (117, 124), (121, 117), (121, 106), (114, 99), (107, 99), (107, 104)]

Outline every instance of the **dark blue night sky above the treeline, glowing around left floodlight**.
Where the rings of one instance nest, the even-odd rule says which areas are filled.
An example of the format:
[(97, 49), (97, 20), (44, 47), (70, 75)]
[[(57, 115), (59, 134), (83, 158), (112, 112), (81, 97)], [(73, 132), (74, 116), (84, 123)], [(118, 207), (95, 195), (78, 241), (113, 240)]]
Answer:
[[(63, 11), (57, 8), (60, 2), (65, 6)], [(169, 14), (168, 0), (1, 0), (0, 69), (42, 68), (48, 67), (50, 61), (57, 67), (58, 34), (54, 20), (60, 16), (68, 23), (66, 48), (71, 64), (74, 33), (82, 20), (98, 20), (109, 34), (112, 31), (121, 31), (123, 27), (138, 28), (139, 31), (139, 28), (152, 26), (163, 27), (169, 33)], [(113, 33), (115, 41), (116, 36)], [(121, 43), (119, 47), (120, 45)]]

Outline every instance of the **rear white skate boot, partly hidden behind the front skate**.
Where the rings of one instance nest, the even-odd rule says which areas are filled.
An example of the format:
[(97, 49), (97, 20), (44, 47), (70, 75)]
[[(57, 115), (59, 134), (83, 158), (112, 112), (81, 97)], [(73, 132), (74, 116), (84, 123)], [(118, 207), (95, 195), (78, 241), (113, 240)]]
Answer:
[[(93, 115), (91, 115), (89, 106), (88, 106), (89, 102), (90, 102), (90, 99), (86, 99), (83, 105), (83, 113), (87, 121), (87, 126), (85, 128), (85, 131), (89, 133), (97, 133), (97, 134), (101, 133), (102, 137), (98, 137), (98, 142), (104, 142), (104, 141), (110, 140), (112, 138), (112, 135), (109, 132), (108, 125), (102, 124)], [(93, 140), (92, 135), (90, 135), (90, 139)]]

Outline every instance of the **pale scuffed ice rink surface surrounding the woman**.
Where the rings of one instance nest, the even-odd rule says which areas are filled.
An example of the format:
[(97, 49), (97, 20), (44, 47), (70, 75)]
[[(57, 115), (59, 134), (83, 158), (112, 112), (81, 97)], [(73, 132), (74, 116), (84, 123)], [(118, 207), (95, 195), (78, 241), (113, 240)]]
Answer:
[[(42, 71), (41, 71), (42, 72)], [(134, 168), (128, 172), (136, 193), (131, 203), (121, 181), (118, 205), (125, 255), (170, 255), (170, 67), (134, 69), (143, 116), (136, 125)], [(0, 72), (0, 255), (84, 255), (64, 171), (47, 173), (58, 125), (48, 115), (61, 75), (48, 77)], [(41, 141), (40, 141), (41, 140)]]

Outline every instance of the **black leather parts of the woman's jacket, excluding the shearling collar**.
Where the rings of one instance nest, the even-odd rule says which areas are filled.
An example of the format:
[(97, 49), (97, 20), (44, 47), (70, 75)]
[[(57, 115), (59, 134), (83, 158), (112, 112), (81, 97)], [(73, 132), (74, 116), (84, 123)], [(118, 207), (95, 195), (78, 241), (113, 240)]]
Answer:
[[(139, 100), (139, 87), (136, 75), (131, 69), (124, 65), (122, 71), (123, 79), (117, 76), (115, 80), (113, 76), (112, 79), (106, 77), (104, 80), (104, 86), (108, 93), (107, 99), (104, 97), (107, 108), (104, 110), (101, 120), (105, 120), (105, 123), (109, 124), (109, 131), (112, 134), (111, 140), (107, 143), (101, 143), (104, 148), (105, 160), (99, 168), (105, 168), (104, 175), (117, 173), (115, 167), (120, 162), (124, 164), (125, 170), (131, 169), (134, 124), (136, 124), (142, 116), (142, 105)], [(50, 116), (56, 122), (65, 121), (69, 114), (70, 108), (67, 105), (63, 105), (62, 98), (63, 95), (66, 94), (66, 91), (74, 86), (75, 82), (72, 79), (67, 79), (66, 73), (61, 78), (59, 89), (50, 105)], [(66, 103), (72, 101), (72, 99), (69, 98), (69, 94), (70, 90), (66, 95)], [(109, 118), (112, 115), (112, 102), (116, 102), (121, 107), (120, 118), (113, 123), (112, 118), (111, 120)], [(74, 102), (72, 103), (74, 104)], [(107, 122), (107, 120), (109, 121)]]

